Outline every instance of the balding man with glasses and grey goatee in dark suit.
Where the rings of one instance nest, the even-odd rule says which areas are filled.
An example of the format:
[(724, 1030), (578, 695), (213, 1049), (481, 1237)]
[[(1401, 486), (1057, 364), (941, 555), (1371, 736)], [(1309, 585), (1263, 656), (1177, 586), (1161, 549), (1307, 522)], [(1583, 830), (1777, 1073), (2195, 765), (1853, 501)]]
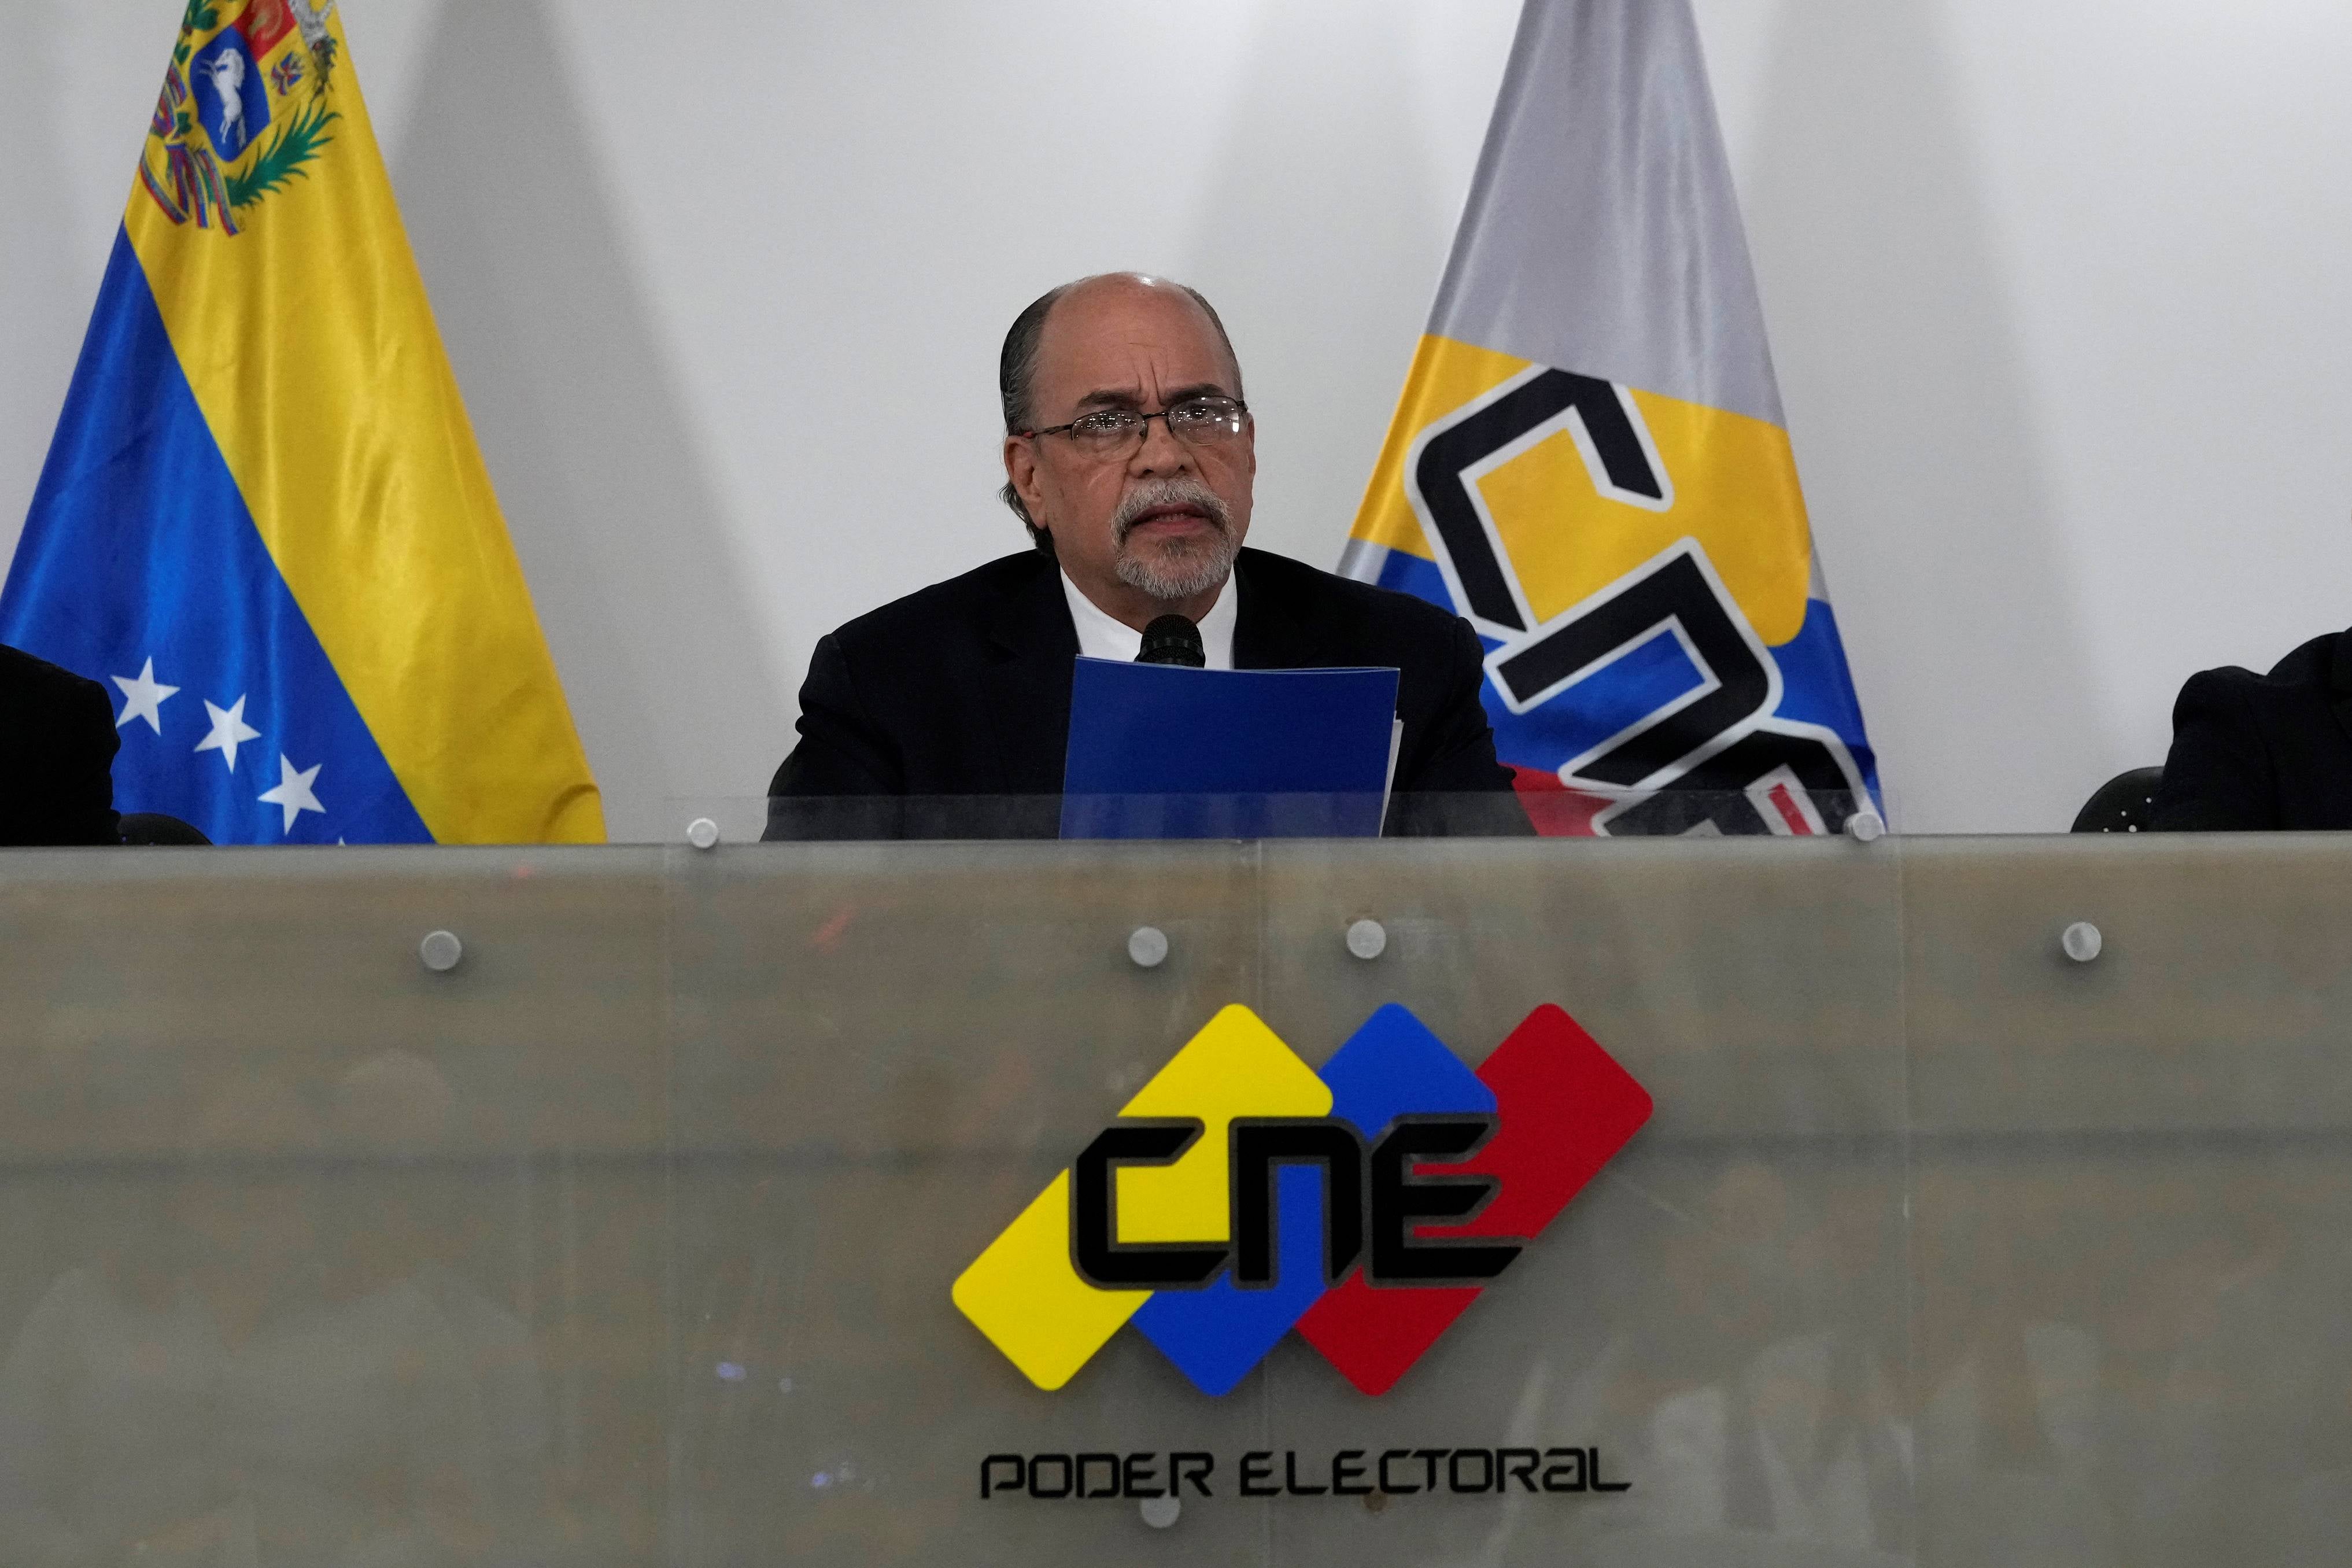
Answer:
[[(1209, 301), (1131, 273), (1063, 284), (1007, 334), (1000, 395), (1002, 494), (1035, 550), (884, 604), (816, 644), (800, 745), (769, 785), (769, 837), (1051, 837), (1073, 661), (1131, 661), (1143, 628), (1167, 614), (1200, 625), (1209, 668), (1395, 665), (1399, 799), (1484, 792), (1501, 806), (1482, 813), (1489, 825), (1526, 832), (1494, 757), (1470, 625), (1242, 548), (1256, 425)], [(873, 804), (811, 804), (844, 797)], [(889, 797), (971, 804), (908, 820), (880, 806)], [(1392, 811), (1390, 825), (1442, 823)]]

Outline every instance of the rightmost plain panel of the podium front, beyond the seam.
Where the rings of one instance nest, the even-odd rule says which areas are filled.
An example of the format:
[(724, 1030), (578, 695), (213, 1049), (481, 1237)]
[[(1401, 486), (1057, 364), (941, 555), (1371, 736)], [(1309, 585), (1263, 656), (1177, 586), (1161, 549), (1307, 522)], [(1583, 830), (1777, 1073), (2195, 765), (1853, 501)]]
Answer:
[(1922, 1561), (2343, 1561), (2352, 842), (1903, 877)]

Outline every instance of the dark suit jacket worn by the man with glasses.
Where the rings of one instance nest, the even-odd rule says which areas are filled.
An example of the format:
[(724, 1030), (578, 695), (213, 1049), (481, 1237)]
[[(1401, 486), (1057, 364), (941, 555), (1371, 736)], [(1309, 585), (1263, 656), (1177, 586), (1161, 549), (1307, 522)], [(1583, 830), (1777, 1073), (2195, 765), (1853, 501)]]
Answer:
[[(1503, 792), (1479, 708), (1482, 651), (1458, 616), (1385, 588), (1352, 583), (1282, 555), (1242, 550), (1232, 576), (1232, 663), (1242, 670), (1395, 665), (1395, 792)], [(1077, 630), (1061, 567), (1037, 550), (858, 616), (816, 644), (800, 689), (800, 745), (769, 785), (767, 837), (894, 835), (1054, 837), (1070, 741)], [(837, 797), (1028, 797), (948, 820), (866, 809), (835, 813), (795, 802)], [(1505, 830), (1526, 832), (1510, 797)], [(828, 816), (830, 813), (830, 816)], [(957, 820), (960, 818), (960, 820)], [(1390, 811), (1392, 830), (1416, 830)], [(1442, 823), (1423, 811), (1418, 830)], [(1489, 830), (1494, 825), (1489, 823)]]

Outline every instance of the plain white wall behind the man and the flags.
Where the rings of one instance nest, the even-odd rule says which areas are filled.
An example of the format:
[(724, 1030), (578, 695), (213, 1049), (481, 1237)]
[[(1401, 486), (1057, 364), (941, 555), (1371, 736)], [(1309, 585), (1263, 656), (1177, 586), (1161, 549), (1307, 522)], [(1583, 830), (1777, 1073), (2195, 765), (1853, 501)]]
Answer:
[[(5, 0), (0, 557), (176, 0)], [(616, 837), (757, 795), (835, 623), (1021, 545), (995, 348), (1225, 313), (1331, 564), (1515, 0), (343, 0)], [(2352, 9), (1698, 0), (1898, 825), (2058, 830), (2180, 679), (2352, 621)]]

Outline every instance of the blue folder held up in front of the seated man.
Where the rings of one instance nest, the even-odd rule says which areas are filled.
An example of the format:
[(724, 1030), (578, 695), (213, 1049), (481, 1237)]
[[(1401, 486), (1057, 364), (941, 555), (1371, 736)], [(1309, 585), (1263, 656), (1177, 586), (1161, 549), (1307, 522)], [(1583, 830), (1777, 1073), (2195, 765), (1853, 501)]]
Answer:
[(1376, 837), (1395, 717), (1395, 670), (1080, 658), (1061, 837)]

